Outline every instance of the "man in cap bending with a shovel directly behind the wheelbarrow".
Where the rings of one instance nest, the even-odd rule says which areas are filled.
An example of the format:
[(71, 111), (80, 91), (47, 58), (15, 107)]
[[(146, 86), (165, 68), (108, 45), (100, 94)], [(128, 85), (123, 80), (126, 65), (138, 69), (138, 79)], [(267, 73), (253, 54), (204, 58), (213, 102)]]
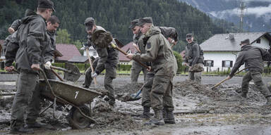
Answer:
[(99, 58), (93, 62), (95, 72), (91, 68), (85, 73), (84, 87), (88, 88), (92, 82), (92, 77), (97, 77), (103, 70), (106, 70), (104, 75), (104, 88), (109, 91), (109, 104), (114, 106), (115, 96), (112, 85), (113, 79), (116, 78), (116, 65), (119, 63), (119, 52), (113, 49), (110, 44), (112, 35), (104, 30), (103, 27), (95, 24), (94, 18), (85, 19), (85, 29), (88, 32), (88, 46), (93, 46), (96, 49)]

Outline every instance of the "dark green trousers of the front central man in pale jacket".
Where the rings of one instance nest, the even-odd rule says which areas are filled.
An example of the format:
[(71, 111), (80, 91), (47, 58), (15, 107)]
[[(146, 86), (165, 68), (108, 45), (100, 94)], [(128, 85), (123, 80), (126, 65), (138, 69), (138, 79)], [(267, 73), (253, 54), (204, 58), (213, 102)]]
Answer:
[(172, 77), (165, 75), (155, 75), (150, 91), (150, 103), (153, 110), (162, 110), (163, 108), (173, 111), (172, 100)]

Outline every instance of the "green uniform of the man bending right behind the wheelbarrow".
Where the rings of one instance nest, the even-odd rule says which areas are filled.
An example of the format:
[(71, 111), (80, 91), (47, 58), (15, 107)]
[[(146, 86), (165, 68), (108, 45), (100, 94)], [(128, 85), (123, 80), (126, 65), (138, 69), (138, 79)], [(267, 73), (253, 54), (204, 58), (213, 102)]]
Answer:
[[(93, 33), (95, 34), (95, 32), (100, 30), (106, 32), (104, 28), (97, 26)], [(93, 68), (95, 69), (97, 75), (99, 75), (103, 70), (106, 70), (104, 75), (104, 88), (109, 91), (109, 103), (114, 105), (115, 98), (112, 81), (116, 78), (116, 65), (119, 63), (119, 52), (113, 49), (110, 45), (105, 48), (95, 45), (92, 41), (91, 35), (88, 36), (88, 45), (93, 46), (99, 55), (99, 58), (96, 58), (93, 62)], [(92, 82), (91, 75), (91, 69), (88, 68), (87, 72), (85, 73), (85, 87), (90, 86)]]

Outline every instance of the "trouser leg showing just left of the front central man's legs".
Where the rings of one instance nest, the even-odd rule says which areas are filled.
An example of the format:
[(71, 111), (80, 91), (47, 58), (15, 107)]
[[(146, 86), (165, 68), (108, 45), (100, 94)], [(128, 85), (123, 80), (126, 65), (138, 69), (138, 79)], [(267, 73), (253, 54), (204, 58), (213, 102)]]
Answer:
[(152, 72), (147, 72), (145, 85), (142, 89), (142, 101), (141, 105), (145, 107), (150, 107), (150, 91), (152, 90), (152, 83), (153, 79), (155, 77), (155, 74)]

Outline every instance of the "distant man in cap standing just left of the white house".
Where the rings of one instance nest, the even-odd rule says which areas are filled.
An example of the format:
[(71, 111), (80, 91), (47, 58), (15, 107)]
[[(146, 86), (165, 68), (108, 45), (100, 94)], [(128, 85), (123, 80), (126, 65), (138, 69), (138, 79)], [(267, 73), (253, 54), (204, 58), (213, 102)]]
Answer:
[(186, 34), (186, 56), (185, 65), (189, 66), (188, 79), (201, 84), (201, 72), (203, 71), (203, 50), (196, 41), (193, 41), (192, 34)]

